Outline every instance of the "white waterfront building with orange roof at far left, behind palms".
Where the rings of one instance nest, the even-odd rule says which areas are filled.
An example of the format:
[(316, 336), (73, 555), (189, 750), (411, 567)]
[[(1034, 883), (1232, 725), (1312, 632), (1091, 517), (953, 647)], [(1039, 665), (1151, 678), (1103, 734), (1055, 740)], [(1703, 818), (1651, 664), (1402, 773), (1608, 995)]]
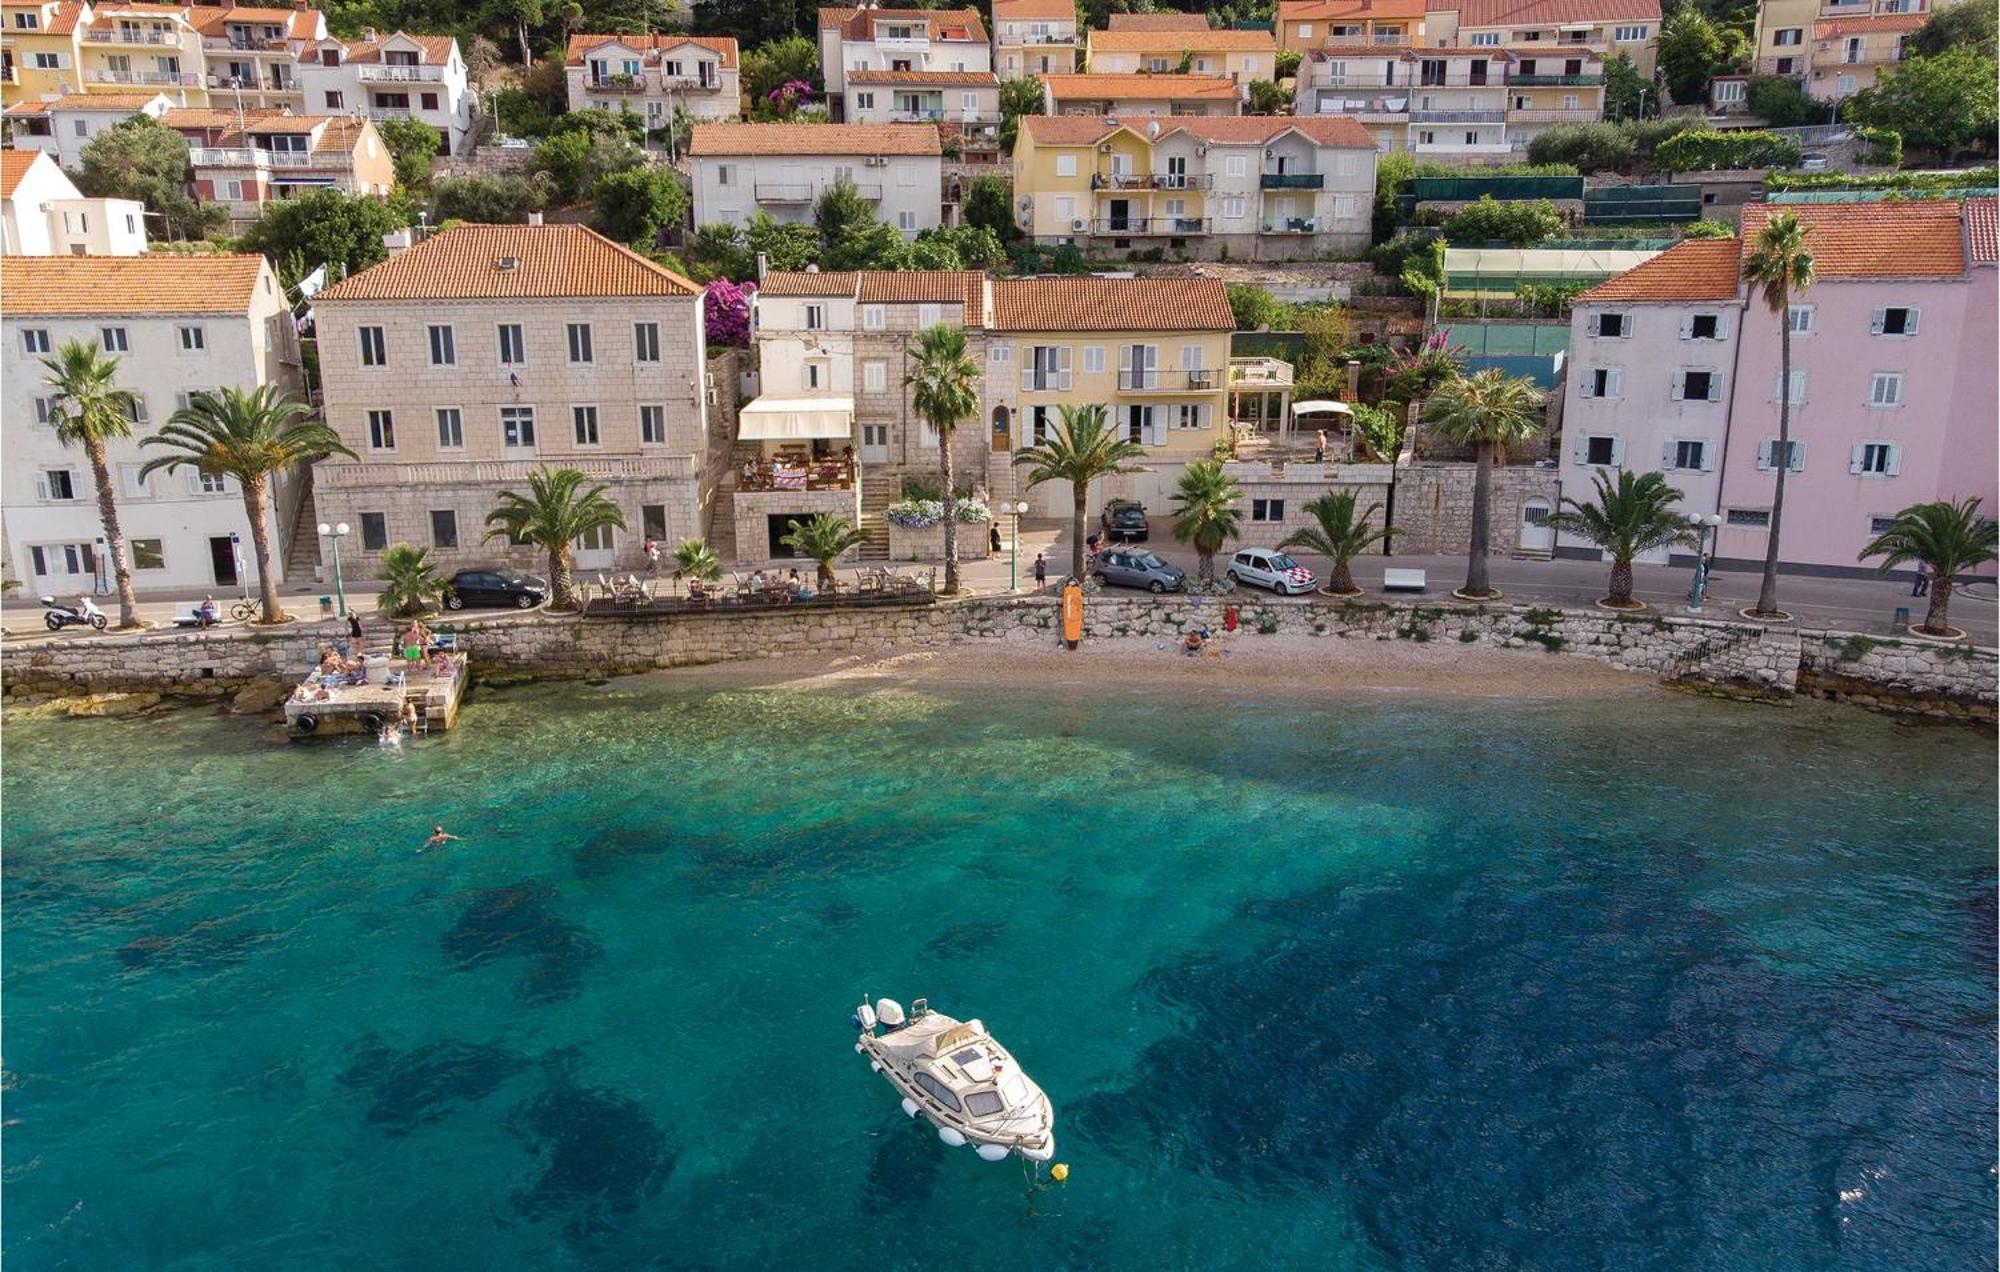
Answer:
[[(48, 426), (42, 358), (88, 340), (118, 358), (118, 386), (134, 394), (134, 436), (110, 444), (118, 518), (142, 592), (238, 592), (254, 584), (256, 554), (242, 490), (232, 478), (152, 474), (142, 448), (194, 390), (300, 384), (292, 314), (262, 256), (50, 256), (10, 260), (0, 292), (0, 518), (8, 576), (34, 594), (110, 586), (98, 540), (96, 484), (80, 450)], [(302, 482), (272, 482), (272, 568), (298, 514)]]

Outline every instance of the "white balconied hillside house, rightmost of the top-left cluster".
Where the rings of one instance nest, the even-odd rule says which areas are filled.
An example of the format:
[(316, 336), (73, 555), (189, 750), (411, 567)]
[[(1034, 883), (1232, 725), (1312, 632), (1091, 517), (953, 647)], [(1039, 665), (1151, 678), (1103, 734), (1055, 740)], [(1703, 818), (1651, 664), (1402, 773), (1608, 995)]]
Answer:
[(374, 122), (412, 118), (438, 130), (438, 154), (458, 154), (472, 132), (476, 100), (452, 36), (362, 32), (324, 38), (300, 52), (304, 114), (366, 114)]

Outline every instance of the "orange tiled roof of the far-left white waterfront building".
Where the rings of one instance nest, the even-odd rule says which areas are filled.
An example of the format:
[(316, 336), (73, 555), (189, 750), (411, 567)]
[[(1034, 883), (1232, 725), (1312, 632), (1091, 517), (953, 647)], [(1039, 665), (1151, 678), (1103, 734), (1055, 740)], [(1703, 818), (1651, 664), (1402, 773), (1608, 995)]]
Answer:
[(264, 272), (262, 256), (224, 252), (146, 256), (12, 256), (0, 312), (246, 314)]

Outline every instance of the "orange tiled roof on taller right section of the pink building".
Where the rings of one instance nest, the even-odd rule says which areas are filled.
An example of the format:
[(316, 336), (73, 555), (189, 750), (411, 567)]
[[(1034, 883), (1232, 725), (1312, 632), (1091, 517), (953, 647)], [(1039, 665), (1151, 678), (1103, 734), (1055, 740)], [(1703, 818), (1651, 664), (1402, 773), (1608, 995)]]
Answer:
[(1954, 202), (1744, 204), (1744, 242), (1780, 212), (1806, 226), (1806, 250), (1822, 282), (1960, 278), (1966, 272), (1964, 218)]

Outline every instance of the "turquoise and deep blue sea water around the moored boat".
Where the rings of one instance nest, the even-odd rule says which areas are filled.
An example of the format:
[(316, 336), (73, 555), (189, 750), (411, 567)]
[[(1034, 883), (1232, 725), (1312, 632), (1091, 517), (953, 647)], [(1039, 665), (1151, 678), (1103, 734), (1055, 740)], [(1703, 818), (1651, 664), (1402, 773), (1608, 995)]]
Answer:
[[(1682, 698), (12, 722), (6, 1260), (1992, 1266), (1994, 764)], [(864, 992), (984, 1018), (1068, 1184), (908, 1122)]]

